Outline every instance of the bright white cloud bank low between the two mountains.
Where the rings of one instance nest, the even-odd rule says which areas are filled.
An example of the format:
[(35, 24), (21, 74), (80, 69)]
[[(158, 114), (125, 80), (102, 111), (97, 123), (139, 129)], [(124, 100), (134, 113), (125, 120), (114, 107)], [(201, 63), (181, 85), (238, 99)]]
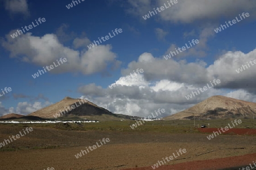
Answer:
[[(150, 61), (147, 60), (150, 57), (145, 56), (147, 54), (144, 54), (142, 58)], [(145, 61), (143, 59), (141, 60)], [(109, 109), (113, 113), (142, 117), (147, 117), (159, 108), (166, 110), (166, 113), (160, 117), (169, 116), (191, 107), (211, 95), (220, 95), (221, 92), (221, 90), (210, 89), (188, 101), (185, 96), (199, 86), (167, 79), (147, 81), (143, 74), (127, 79), (127, 75), (124, 73), (124, 76), (116, 80), (114, 84), (115, 87), (112, 89), (89, 84), (79, 87), (79, 92), (89, 99), (92, 99), (93, 96), (93, 103)]]

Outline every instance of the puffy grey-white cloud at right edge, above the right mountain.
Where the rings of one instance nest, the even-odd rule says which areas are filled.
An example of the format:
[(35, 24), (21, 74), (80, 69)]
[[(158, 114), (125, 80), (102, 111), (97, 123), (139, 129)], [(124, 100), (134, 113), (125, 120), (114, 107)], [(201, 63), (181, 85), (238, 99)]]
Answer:
[[(256, 49), (245, 54), (241, 51), (226, 52), (220, 56), (212, 65), (207, 68), (208, 79), (217, 78), (221, 80), (220, 88), (244, 88), (254, 89), (256, 86), (256, 69), (248, 63), (254, 61), (256, 55)], [(247, 63), (248, 62), (248, 63)], [(237, 73), (238, 68), (241, 69), (242, 65), (246, 65), (248, 69)], [(243, 69), (243, 67), (242, 67)]]

